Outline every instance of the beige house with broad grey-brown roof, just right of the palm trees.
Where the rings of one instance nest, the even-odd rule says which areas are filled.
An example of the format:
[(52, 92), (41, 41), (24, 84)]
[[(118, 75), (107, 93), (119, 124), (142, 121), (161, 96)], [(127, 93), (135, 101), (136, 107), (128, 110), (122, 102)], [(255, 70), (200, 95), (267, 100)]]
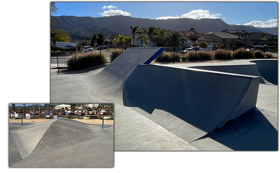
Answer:
[[(227, 32), (213, 32), (213, 31), (211, 31), (211, 32), (208, 32), (208, 33), (205, 33), (205, 34), (202, 34), (202, 35), (204, 37), (212, 39), (212, 41), (215, 42), (215, 43), (222, 43), (225, 46), (234, 44), (234, 42), (236, 40), (238, 40), (237, 35), (230, 34), (230, 33), (227, 33)], [(244, 38), (241, 37), (241, 41), (243, 41), (243, 40), (244, 40)]]

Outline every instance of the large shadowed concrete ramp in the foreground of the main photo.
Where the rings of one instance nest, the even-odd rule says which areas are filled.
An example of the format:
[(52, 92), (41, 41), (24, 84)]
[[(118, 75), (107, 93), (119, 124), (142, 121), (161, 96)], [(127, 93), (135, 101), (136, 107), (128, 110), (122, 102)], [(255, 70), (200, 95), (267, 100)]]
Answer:
[[(137, 65), (124, 83), (123, 101), (192, 142), (254, 108), (258, 89), (258, 76)], [(153, 113), (158, 110), (163, 112)]]

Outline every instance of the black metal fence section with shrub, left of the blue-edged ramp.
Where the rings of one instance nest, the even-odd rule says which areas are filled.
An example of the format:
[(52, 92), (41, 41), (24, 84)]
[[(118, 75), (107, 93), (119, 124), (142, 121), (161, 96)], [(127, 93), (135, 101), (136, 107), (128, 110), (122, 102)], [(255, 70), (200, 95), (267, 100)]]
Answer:
[(57, 54), (59, 70), (81, 70), (100, 64), (109, 64), (126, 48), (93, 49), (72, 54)]

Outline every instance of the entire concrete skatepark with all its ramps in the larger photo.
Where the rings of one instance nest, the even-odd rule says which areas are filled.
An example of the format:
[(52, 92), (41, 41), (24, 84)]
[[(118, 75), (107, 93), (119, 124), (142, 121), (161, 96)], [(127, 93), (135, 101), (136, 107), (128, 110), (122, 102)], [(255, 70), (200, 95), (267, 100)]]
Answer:
[(114, 103), (115, 151), (278, 150), (278, 60), (150, 64), (161, 52), (52, 73), (51, 102)]

